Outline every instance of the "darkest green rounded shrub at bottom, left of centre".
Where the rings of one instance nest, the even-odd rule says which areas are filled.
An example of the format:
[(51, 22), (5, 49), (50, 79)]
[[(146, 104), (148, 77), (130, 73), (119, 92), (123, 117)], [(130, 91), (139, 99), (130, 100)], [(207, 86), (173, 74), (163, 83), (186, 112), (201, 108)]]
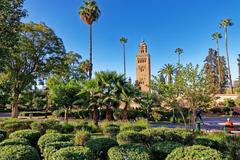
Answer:
[(118, 143), (110, 138), (96, 138), (86, 142), (85, 146), (90, 148), (95, 159), (105, 160), (107, 158), (107, 151), (109, 148), (117, 146)]

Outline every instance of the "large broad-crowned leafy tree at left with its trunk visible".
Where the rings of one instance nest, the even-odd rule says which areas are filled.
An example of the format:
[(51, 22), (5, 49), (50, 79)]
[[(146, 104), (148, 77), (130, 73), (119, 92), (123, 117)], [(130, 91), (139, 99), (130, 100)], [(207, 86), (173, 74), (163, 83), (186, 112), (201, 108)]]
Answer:
[(50, 73), (65, 54), (62, 40), (43, 23), (23, 24), (19, 45), (8, 55), (0, 82), (10, 83), (12, 117), (18, 115), (19, 95), (36, 84), (38, 77)]

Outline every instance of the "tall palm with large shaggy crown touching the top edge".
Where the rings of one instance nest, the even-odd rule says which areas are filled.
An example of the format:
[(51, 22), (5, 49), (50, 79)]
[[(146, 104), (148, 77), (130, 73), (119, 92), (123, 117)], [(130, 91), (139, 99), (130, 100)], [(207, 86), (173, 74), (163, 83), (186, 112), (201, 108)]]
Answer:
[(95, 0), (85, 0), (84, 5), (79, 9), (79, 15), (82, 21), (90, 26), (90, 58), (89, 58), (89, 79), (92, 78), (92, 25), (99, 19), (101, 11)]

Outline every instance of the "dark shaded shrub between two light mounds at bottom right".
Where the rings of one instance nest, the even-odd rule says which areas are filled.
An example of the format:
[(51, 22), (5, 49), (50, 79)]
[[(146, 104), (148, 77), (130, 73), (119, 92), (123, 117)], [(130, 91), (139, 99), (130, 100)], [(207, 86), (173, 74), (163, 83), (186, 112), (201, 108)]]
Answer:
[(178, 147), (183, 147), (181, 143), (178, 142), (160, 142), (152, 146), (153, 157), (156, 160), (164, 160), (169, 153)]

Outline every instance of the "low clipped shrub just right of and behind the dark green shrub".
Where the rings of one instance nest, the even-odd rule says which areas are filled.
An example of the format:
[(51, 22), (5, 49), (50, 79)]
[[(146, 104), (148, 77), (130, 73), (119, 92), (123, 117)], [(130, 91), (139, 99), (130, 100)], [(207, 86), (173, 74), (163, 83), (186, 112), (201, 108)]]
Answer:
[(136, 131), (124, 131), (117, 135), (117, 142), (119, 144), (128, 143), (144, 143), (146, 136)]

